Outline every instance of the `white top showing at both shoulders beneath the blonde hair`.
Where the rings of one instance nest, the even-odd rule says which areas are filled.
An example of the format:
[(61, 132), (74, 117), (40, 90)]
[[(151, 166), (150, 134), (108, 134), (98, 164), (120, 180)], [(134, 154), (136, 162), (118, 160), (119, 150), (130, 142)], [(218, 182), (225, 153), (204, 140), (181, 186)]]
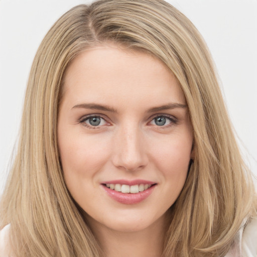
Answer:
[[(9, 246), (10, 224), (0, 231), (0, 257), (15, 257)], [(242, 226), (235, 239), (235, 244), (224, 257), (257, 257), (257, 218)]]

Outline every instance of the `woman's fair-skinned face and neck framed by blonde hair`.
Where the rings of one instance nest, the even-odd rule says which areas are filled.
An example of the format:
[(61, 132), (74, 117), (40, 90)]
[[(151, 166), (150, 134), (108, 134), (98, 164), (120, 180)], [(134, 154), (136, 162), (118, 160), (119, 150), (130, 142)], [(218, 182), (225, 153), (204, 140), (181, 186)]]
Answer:
[(64, 179), (106, 256), (161, 255), (192, 142), (184, 95), (160, 60), (109, 44), (69, 66), (58, 116)]

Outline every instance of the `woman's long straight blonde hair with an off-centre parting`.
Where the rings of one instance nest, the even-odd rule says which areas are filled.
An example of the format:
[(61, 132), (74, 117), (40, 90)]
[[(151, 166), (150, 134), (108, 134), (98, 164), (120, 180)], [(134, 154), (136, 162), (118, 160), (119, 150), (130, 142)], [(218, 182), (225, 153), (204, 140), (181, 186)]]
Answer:
[(163, 256), (223, 256), (254, 212), (254, 188), (225, 110), (215, 68), (196, 28), (162, 0), (101, 0), (64, 14), (34, 59), (19, 148), (1, 199), (0, 228), (11, 223), (17, 257), (101, 256), (63, 179), (58, 106), (69, 64), (111, 42), (145, 51), (175, 75), (190, 112), (195, 159), (171, 206)]

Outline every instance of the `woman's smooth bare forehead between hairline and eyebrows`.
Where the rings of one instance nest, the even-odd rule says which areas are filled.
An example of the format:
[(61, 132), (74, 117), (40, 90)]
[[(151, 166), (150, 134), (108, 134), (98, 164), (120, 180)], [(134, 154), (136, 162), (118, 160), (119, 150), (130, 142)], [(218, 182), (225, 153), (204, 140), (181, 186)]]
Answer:
[(74, 101), (90, 98), (133, 102), (179, 101), (184, 94), (163, 62), (142, 51), (113, 45), (85, 50), (68, 67), (64, 76), (64, 97)]

